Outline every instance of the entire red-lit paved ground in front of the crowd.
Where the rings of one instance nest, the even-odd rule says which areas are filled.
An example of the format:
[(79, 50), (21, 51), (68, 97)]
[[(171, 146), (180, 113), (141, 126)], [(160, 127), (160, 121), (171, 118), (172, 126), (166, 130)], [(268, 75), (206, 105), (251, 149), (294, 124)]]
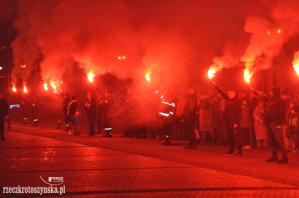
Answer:
[[(271, 151), (228, 146), (182, 147), (186, 141), (68, 136), (54, 126), (12, 125), (0, 141), (0, 197), (299, 197), (299, 155), (289, 163), (266, 163)], [(280, 153), (281, 155), (281, 153)], [(280, 156), (281, 157), (281, 156)], [(6, 194), (3, 187), (50, 187), (64, 177), (65, 193)], [(42, 181), (42, 180), (45, 180)], [(58, 182), (59, 183), (59, 182)]]

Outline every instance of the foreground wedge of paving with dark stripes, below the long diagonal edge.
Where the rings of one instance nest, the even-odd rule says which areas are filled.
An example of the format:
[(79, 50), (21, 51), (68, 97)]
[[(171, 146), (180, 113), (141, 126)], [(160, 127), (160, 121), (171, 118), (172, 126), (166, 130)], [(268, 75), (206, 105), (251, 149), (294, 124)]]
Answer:
[(41, 178), (64, 177), (58, 186), (66, 192), (1, 197), (299, 197), (296, 186), (275, 181), (46, 137), (7, 136), (13, 138), (0, 142), (1, 190), (49, 187)]

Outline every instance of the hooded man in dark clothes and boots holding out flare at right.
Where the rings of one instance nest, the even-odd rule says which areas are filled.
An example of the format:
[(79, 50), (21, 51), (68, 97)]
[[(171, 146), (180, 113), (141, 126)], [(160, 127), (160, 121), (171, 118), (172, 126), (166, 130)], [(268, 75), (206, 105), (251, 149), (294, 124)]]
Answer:
[[(285, 110), (284, 103), (280, 98), (280, 88), (278, 86), (271, 87), (269, 90), (269, 95), (263, 94), (262, 92), (256, 91), (253, 88), (252, 92), (257, 94), (262, 100), (268, 100), (268, 106), (266, 109), (266, 113), (261, 111), (261, 114), (266, 115), (267, 119), (267, 127), (270, 132), (271, 140), (272, 140), (272, 157), (266, 162), (279, 162), (279, 163), (288, 163), (286, 144), (283, 140), (283, 133), (281, 130), (281, 124), (284, 120)], [(277, 149), (278, 145), (281, 147), (281, 152), (283, 158), (278, 160), (277, 158)]]

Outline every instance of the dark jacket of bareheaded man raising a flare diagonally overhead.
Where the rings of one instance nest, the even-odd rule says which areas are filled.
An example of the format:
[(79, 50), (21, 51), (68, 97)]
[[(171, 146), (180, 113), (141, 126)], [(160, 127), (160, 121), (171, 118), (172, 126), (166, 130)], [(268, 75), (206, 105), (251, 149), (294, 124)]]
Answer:
[(226, 100), (225, 108), (223, 112), (224, 120), (226, 122), (232, 122), (236, 125), (239, 125), (241, 120), (241, 115), (242, 115), (241, 101), (237, 96), (229, 99), (228, 95), (219, 86), (215, 86), (215, 89), (217, 89), (217, 91)]

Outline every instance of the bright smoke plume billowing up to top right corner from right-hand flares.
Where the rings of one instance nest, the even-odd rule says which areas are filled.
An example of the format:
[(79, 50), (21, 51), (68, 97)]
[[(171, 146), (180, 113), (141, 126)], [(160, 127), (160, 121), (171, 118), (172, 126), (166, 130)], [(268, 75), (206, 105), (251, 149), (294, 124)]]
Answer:
[(250, 15), (245, 20), (244, 30), (250, 35), (245, 53), (238, 58), (238, 53), (224, 50), (222, 57), (213, 59), (210, 69), (219, 71), (223, 67), (238, 66), (242, 61), (245, 70), (252, 76), (259, 70), (270, 68), (274, 58), (281, 53), (283, 44), (299, 33), (298, 1), (261, 2), (267, 8), (266, 12)]

